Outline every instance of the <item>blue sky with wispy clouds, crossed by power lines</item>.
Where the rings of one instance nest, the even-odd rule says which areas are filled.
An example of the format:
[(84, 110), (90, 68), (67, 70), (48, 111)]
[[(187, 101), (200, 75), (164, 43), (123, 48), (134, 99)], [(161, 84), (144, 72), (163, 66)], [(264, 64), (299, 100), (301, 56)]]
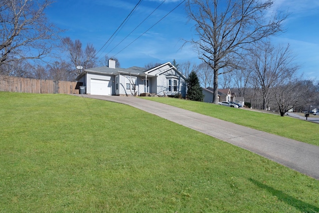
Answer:
[[(61, 36), (69, 36), (72, 40), (79, 39), (84, 46), (92, 43), (100, 50), (138, 2), (139, 0), (56, 0), (46, 14), (51, 22), (66, 29)], [(103, 58), (106, 54), (115, 55), (124, 68), (144, 67), (151, 62), (164, 63), (173, 59), (177, 63), (189, 60), (199, 64), (197, 54), (188, 45), (181, 48), (183, 39), (194, 36), (193, 24), (187, 22), (184, 3), (126, 47), (182, 0), (166, 0), (152, 16), (115, 47), (161, 2), (162, 0), (143, 0), (114, 40), (109, 42), (98, 56)], [(296, 62), (301, 65), (300, 73), (304, 73), (305, 78), (317, 77), (319, 1), (275, 0), (275, 7), (291, 14), (285, 21), (286, 32), (272, 38), (274, 44), (290, 43), (291, 50), (296, 55)], [(125, 49), (122, 50), (123, 48)]]

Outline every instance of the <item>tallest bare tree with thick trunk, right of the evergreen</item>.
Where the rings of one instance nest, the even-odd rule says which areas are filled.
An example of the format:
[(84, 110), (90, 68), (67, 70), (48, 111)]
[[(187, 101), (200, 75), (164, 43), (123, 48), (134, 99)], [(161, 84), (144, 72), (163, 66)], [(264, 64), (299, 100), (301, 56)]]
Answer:
[(188, 0), (186, 9), (195, 22), (199, 39), (193, 44), (199, 58), (213, 70), (215, 104), (218, 103), (218, 75), (224, 67), (236, 68), (233, 57), (242, 48), (282, 31), (286, 16), (267, 15), (273, 0)]

